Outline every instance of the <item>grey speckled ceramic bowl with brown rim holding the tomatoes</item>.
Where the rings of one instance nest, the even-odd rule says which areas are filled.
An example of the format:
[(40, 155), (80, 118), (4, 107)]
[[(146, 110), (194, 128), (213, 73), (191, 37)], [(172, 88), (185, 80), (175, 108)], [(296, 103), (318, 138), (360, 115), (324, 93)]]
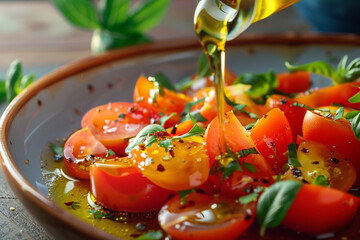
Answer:
[[(229, 42), (227, 66), (235, 73), (283, 71), (284, 61), (360, 56), (354, 36), (251, 36)], [(158, 42), (89, 57), (39, 79), (10, 103), (1, 118), (1, 167), (28, 211), (57, 239), (116, 239), (77, 219), (48, 196), (40, 156), (56, 138), (80, 128), (82, 115), (110, 101), (132, 101), (140, 74), (162, 72), (174, 81), (196, 71), (197, 40)]]

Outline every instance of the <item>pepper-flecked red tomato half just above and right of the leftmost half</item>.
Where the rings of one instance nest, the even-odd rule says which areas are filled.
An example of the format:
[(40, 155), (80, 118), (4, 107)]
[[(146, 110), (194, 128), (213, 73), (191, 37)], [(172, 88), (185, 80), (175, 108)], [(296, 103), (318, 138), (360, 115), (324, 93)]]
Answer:
[(125, 155), (128, 139), (150, 123), (158, 122), (160, 115), (133, 103), (114, 102), (89, 110), (81, 121), (108, 149)]

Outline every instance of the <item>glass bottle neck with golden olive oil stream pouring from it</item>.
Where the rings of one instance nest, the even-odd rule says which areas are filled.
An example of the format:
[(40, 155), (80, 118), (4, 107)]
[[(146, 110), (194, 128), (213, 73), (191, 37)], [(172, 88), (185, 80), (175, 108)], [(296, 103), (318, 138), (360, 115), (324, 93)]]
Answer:
[(225, 44), (251, 23), (284, 9), (299, 0), (201, 0), (194, 16), (195, 31), (207, 54), (214, 75), (219, 121), (219, 148), (224, 153)]

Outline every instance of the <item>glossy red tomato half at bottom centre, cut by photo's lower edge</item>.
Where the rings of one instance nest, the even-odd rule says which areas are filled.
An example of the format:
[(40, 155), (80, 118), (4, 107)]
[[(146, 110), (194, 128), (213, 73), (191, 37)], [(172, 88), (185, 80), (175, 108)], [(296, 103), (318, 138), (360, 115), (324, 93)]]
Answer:
[(158, 219), (160, 226), (176, 239), (235, 239), (253, 222), (255, 205), (191, 193), (185, 204), (179, 196), (170, 199)]

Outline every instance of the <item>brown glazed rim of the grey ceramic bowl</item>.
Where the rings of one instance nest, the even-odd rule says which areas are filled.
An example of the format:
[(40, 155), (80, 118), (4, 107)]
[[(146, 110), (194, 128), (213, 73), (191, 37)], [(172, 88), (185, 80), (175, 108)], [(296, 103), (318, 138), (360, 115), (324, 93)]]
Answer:
[[(228, 46), (251, 46), (251, 45), (359, 45), (360, 37), (356, 35), (312, 35), (288, 33), (281, 35), (268, 34), (247, 34), (241, 38), (229, 42)], [(0, 165), (6, 180), (13, 191), (21, 199), (26, 199), (32, 205), (47, 212), (52, 218), (62, 222), (70, 230), (81, 234), (89, 239), (119, 239), (100, 229), (91, 227), (84, 221), (61, 209), (58, 205), (42, 195), (29, 181), (21, 174), (13, 161), (7, 145), (8, 128), (19, 112), (19, 110), (34, 97), (38, 92), (50, 85), (60, 82), (74, 74), (81, 73), (94, 67), (108, 64), (112, 61), (124, 60), (130, 57), (145, 56), (155, 53), (180, 52), (184, 50), (200, 49), (197, 39), (181, 39), (171, 41), (159, 41), (140, 46), (129, 47), (110, 51), (104, 54), (89, 56), (85, 59), (65, 65), (46, 76), (37, 80), (34, 84), (17, 96), (5, 109), (0, 119)]]

